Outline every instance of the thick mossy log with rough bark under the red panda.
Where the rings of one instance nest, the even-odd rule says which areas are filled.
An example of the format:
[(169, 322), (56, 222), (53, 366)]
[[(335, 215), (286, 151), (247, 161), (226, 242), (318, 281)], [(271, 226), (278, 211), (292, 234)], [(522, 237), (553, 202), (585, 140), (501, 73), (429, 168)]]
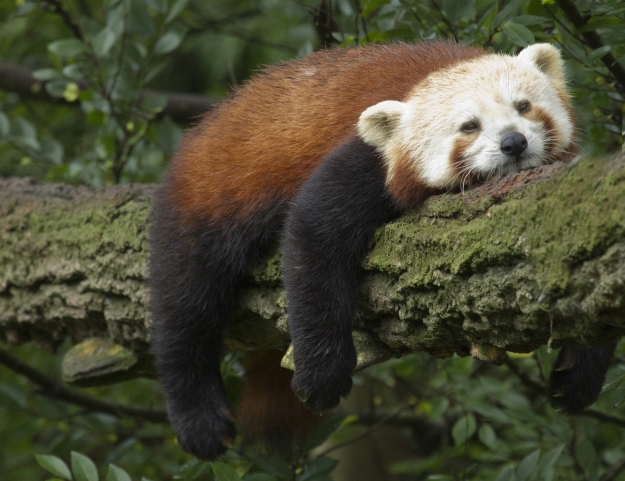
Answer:
[[(0, 339), (104, 337), (145, 358), (153, 191), (0, 179)], [(623, 155), (442, 194), (375, 235), (354, 323), (360, 361), (614, 339), (624, 280)], [(250, 272), (227, 347), (286, 347), (286, 320), (276, 245)]]

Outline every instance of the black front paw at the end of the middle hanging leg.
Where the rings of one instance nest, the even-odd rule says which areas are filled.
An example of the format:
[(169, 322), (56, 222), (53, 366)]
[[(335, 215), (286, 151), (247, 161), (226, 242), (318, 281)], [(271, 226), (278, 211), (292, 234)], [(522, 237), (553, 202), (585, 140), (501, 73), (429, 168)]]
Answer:
[(345, 366), (327, 371), (295, 370), (291, 388), (304, 405), (313, 411), (336, 407), (352, 389), (353, 368)]

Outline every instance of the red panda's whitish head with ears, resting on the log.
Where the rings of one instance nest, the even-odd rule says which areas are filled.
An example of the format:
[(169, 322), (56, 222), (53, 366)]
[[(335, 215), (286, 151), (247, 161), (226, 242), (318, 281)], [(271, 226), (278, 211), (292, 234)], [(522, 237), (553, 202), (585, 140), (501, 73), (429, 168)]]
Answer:
[(426, 185), (452, 187), (566, 157), (569, 112), (559, 53), (538, 44), (434, 72), (405, 102), (363, 112), (358, 132), (382, 153), (387, 180), (408, 161)]

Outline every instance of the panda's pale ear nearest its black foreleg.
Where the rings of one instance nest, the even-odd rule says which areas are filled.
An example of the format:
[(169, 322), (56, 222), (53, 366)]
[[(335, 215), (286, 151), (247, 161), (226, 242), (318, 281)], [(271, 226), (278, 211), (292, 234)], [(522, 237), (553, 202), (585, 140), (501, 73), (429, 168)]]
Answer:
[(385, 100), (369, 107), (356, 125), (358, 135), (369, 145), (383, 149), (399, 125), (407, 105), (396, 100)]

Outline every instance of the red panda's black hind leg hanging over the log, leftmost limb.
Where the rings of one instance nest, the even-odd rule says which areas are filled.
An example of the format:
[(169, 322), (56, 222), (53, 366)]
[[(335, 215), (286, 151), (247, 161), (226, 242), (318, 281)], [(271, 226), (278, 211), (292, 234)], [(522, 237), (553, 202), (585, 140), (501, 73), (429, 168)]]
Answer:
[(237, 289), (275, 236), (284, 209), (277, 203), (251, 221), (183, 228), (166, 189), (155, 201), (151, 233), (152, 349), (178, 443), (211, 460), (236, 436), (220, 373), (223, 331)]

